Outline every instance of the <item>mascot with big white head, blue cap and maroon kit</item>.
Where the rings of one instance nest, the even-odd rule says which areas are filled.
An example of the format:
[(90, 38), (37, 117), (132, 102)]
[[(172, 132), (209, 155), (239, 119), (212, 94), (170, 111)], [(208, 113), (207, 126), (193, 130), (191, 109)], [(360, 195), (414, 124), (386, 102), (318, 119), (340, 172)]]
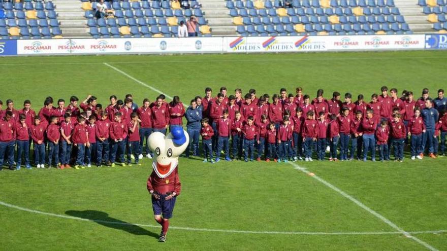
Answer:
[(147, 190), (152, 195), (155, 221), (162, 225), (158, 239), (161, 242), (166, 242), (169, 219), (181, 189), (177, 172), (178, 156), (185, 151), (188, 144), (188, 134), (179, 126), (173, 127), (168, 135), (153, 132), (149, 136), (149, 148), (154, 153), (154, 158), (153, 171), (147, 179)]

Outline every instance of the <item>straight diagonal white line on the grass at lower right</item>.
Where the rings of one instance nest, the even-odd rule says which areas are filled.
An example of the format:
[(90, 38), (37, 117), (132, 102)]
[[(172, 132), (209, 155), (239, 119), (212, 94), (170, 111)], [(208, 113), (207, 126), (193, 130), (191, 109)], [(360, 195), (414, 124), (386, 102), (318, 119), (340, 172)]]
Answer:
[[(295, 169), (300, 170), (306, 174), (309, 175), (309, 171), (304, 168), (301, 167), (293, 162), (290, 162), (291, 165), (293, 165), (295, 167)], [(432, 250), (432, 251), (438, 251), (438, 249), (436, 249), (435, 247), (431, 246), (430, 244), (428, 244), (427, 242), (414, 237), (410, 234), (410, 232), (407, 232), (405, 230), (403, 230), (402, 228), (398, 227), (396, 224), (394, 224), (393, 222), (391, 222), (390, 220), (388, 220), (387, 218), (385, 218), (384, 216), (382, 216), (380, 213), (374, 211), (373, 209), (369, 208), (368, 206), (366, 206), (365, 204), (363, 204), (362, 202), (358, 201), (357, 199), (355, 199), (354, 197), (348, 195), (347, 193), (343, 192), (341, 189), (337, 188), (336, 186), (330, 184), (329, 182), (323, 180), (323, 178), (318, 177), (317, 175), (313, 174), (310, 175), (312, 178), (314, 178), (315, 180), (323, 183), (324, 185), (326, 185), (327, 187), (329, 187), (330, 189), (334, 190), (335, 192), (341, 194), (343, 197), (345, 197), (346, 199), (354, 202), (356, 205), (360, 206), (361, 208), (365, 209), (366, 211), (368, 211), (369, 213), (371, 213), (373, 216), (377, 217), (378, 219), (380, 219), (382, 222), (386, 223), (387, 225), (389, 225), (390, 227), (396, 229), (400, 234), (405, 235), (407, 238), (410, 238), (416, 242), (418, 242), (419, 244), (425, 246), (426, 248)]]

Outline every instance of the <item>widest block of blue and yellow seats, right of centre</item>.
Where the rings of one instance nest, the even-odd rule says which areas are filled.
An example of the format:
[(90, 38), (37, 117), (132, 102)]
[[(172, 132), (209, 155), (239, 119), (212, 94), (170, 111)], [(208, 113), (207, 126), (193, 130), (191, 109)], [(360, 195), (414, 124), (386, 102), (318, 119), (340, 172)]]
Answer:
[(227, 1), (237, 32), (257, 35), (412, 33), (393, 0)]

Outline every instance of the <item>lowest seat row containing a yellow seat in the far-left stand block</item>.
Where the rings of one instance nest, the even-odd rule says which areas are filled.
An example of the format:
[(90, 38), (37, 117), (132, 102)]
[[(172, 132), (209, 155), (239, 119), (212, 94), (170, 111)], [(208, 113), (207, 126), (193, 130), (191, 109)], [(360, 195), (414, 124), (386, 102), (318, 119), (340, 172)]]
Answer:
[(7, 28), (0, 27), (0, 37), (3, 39), (7, 39), (8, 37), (12, 37), (13, 39), (18, 39), (18, 37), (22, 37), (24, 39), (28, 39), (30, 37), (33, 37), (34, 39), (40, 39), (40, 38), (51, 38), (51, 35), (62, 35), (62, 32), (60, 28), (54, 27), (50, 30), (48, 27), (44, 27), (42, 29), (39, 29), (37, 27), (33, 28), (26, 28), (21, 27), (20, 29), (13, 27), (10, 28), (8, 31)]

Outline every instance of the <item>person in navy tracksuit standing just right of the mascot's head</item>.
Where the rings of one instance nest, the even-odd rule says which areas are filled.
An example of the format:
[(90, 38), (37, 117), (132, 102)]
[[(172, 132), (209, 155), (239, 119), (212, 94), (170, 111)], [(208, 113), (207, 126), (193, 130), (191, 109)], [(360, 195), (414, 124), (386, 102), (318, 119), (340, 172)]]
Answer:
[(189, 135), (189, 144), (186, 147), (185, 155), (189, 158), (191, 144), (193, 145), (193, 155), (199, 156), (199, 136), (200, 136), (200, 121), (202, 120), (202, 111), (198, 109), (195, 99), (191, 100), (190, 106), (185, 112), (186, 117), (186, 131)]

